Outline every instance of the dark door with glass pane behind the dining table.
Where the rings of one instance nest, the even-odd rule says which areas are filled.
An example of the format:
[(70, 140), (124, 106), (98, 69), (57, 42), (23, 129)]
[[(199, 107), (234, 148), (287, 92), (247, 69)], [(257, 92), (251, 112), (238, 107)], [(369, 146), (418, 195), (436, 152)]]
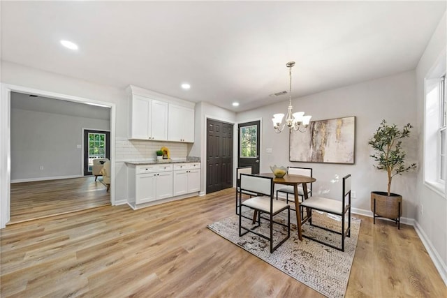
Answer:
[(238, 125), (237, 166), (251, 166), (254, 174), (259, 174), (259, 142), (261, 121), (252, 121)]

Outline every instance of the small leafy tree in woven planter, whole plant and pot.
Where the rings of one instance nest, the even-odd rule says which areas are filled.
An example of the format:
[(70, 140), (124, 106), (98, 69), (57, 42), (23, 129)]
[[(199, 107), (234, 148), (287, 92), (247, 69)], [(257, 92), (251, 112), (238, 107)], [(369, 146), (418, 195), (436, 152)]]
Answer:
[(371, 211), (376, 217), (390, 218), (398, 223), (400, 228), (400, 216), (402, 216), (402, 195), (391, 193), (391, 182), (393, 177), (416, 168), (416, 163), (407, 165), (405, 163), (405, 151), (402, 150), (402, 139), (409, 137), (410, 129), (413, 126), (406, 124), (402, 129), (397, 128), (395, 124), (388, 124), (383, 120), (376, 132), (369, 139), (375, 153), (371, 155), (376, 161), (376, 167), (379, 170), (386, 171), (388, 175), (387, 191), (371, 192)]

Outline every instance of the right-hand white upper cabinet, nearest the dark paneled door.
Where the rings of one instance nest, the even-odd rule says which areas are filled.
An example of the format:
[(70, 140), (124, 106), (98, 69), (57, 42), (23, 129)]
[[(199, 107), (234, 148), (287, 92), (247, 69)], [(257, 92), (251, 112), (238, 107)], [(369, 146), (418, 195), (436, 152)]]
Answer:
[(168, 140), (173, 142), (194, 142), (193, 109), (169, 104)]

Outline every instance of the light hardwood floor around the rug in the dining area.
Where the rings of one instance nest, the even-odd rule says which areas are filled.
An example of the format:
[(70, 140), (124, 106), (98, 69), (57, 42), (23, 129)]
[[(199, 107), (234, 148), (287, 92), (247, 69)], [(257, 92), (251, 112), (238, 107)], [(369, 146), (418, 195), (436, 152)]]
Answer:
[[(235, 190), (140, 210), (99, 207), (1, 233), (1, 297), (322, 297), (219, 237)], [(409, 225), (362, 219), (346, 297), (446, 297)]]

